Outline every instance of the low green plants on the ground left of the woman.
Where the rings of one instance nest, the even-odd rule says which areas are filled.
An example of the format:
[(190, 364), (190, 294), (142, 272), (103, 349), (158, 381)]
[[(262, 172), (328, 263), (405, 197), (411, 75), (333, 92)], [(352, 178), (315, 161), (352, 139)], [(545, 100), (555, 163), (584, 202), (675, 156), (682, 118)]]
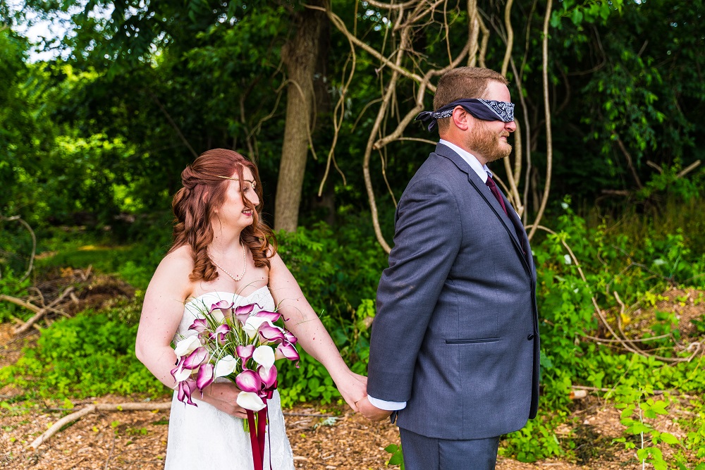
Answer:
[(136, 333), (137, 326), (90, 311), (57, 321), (16, 364), (0, 369), (0, 382), (24, 390), (25, 397), (157, 396), (164, 385), (137, 361)]

